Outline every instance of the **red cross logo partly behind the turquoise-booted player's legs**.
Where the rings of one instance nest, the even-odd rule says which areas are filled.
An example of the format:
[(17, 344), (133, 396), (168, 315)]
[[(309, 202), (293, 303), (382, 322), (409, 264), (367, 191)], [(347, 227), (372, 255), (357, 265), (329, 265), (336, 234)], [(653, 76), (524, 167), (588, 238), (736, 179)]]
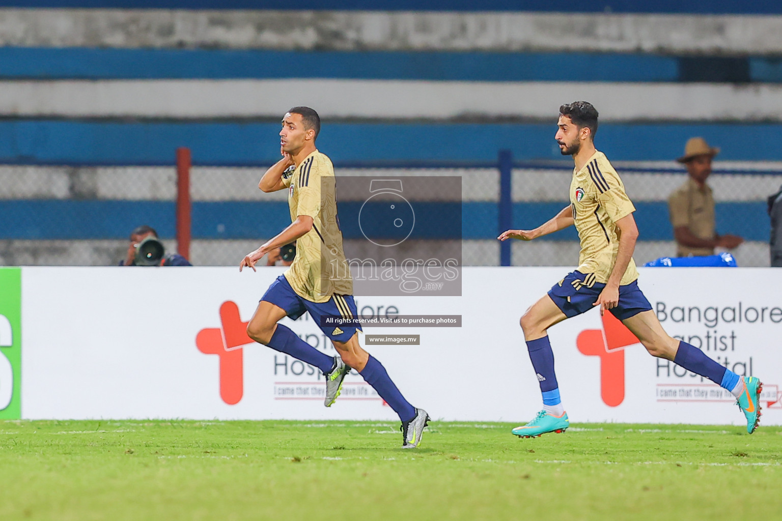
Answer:
[(583, 355), (600, 357), (600, 395), (616, 407), (625, 399), (625, 348), (640, 341), (612, 313), (603, 315), (603, 329), (583, 330), (576, 347)]

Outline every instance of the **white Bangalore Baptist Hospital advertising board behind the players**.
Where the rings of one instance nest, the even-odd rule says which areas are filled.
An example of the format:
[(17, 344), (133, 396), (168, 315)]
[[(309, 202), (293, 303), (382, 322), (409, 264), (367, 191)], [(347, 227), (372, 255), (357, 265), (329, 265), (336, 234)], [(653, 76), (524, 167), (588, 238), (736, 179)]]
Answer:
[[(357, 373), (323, 406), (317, 369), (249, 341), (245, 325), (282, 273), (263, 268), (22, 270), (22, 417), (27, 419), (395, 419)], [(461, 315), (461, 327), (373, 345), (405, 397), (444, 420), (523, 422), (541, 408), (518, 319), (561, 268), (465, 268), (461, 297), (357, 297), (364, 316)], [(764, 382), (761, 424), (782, 424), (782, 270), (643, 269), (669, 334)], [(308, 316), (288, 327), (333, 354)], [(552, 327), (559, 387), (576, 422), (741, 424), (716, 384), (655, 359), (597, 310)]]

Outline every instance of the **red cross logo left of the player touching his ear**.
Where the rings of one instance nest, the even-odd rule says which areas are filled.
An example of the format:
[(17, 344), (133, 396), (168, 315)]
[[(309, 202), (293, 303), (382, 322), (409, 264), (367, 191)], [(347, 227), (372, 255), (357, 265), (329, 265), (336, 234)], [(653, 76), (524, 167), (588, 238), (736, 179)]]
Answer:
[(195, 345), (205, 355), (220, 358), (220, 398), (228, 405), (235, 405), (244, 393), (242, 347), (254, 341), (247, 336), (247, 323), (239, 318), (239, 306), (235, 302), (223, 302), (220, 320), (222, 327), (200, 330), (195, 335)]

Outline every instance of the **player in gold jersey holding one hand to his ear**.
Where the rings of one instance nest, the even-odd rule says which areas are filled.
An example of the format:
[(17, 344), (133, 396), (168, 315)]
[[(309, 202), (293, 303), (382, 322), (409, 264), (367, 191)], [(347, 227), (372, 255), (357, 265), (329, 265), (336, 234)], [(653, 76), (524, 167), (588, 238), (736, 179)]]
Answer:
[[(321, 119), (313, 109), (293, 107), (286, 112), (280, 130), (282, 159), (264, 173), (258, 184), (264, 192), (288, 191), (292, 222), (245, 255), (239, 271), (246, 266), (255, 271), (256, 262), (264, 255), (293, 241), (296, 257), (260, 299), (247, 324), (247, 334), (260, 344), (321, 369), (326, 380), (326, 407), (336, 401), (350, 369), (356, 369), (399, 415), (402, 447), (415, 448), (429, 415), (405, 400), (382, 364), (358, 342), (361, 325), (339, 229), (334, 166), (315, 148), (320, 130)], [(325, 355), (278, 323), (285, 316), (297, 319), (305, 312), (332, 339), (339, 356)]]

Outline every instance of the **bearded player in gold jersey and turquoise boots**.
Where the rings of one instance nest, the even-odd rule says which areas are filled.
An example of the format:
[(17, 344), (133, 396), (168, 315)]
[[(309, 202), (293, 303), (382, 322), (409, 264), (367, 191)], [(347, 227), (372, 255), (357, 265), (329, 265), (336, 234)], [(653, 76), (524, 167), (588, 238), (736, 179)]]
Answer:
[(576, 163), (570, 184), (570, 204), (534, 230), (507, 230), (497, 237), (500, 241), (511, 238), (532, 241), (575, 224), (581, 241), (579, 267), (554, 284), (551, 291), (527, 309), (520, 321), (543, 394), (543, 410), (531, 422), (511, 432), (519, 437), (535, 437), (569, 427), (554, 373), (548, 328), (599, 307), (601, 315), (608, 311), (621, 320), (651, 355), (673, 360), (734, 394), (747, 420), (747, 431), (752, 434), (760, 417), (760, 380), (755, 376), (739, 376), (700, 349), (665, 333), (638, 288), (638, 272), (633, 262), (638, 237), (633, 218), (635, 207), (619, 174), (605, 155), (594, 148), (597, 110), (590, 103), (574, 102), (562, 105), (559, 112), (554, 138), (562, 155), (572, 155)]

